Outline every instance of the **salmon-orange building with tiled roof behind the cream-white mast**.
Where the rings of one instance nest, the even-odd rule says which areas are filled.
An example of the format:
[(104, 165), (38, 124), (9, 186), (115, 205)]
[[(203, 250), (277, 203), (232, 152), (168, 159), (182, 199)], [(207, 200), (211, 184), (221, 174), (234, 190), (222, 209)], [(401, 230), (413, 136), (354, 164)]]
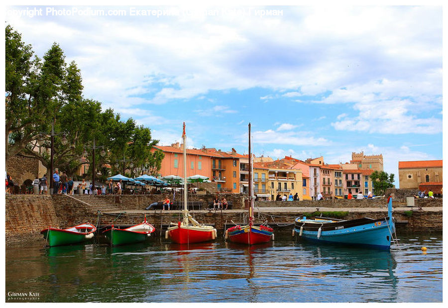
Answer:
[[(156, 145), (152, 150), (161, 150), (165, 154), (159, 171), (162, 177), (168, 175), (184, 176), (183, 144)], [(187, 177), (202, 175), (212, 179), (212, 155), (207, 153), (205, 149), (187, 149), (186, 152)]]

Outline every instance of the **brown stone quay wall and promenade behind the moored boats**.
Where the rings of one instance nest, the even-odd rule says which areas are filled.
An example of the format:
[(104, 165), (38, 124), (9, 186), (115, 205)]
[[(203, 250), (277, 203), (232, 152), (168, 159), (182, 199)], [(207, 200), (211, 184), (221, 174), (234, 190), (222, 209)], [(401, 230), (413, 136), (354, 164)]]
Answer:
[[(221, 236), (225, 227), (247, 222), (243, 200), (235, 197), (233, 209), (208, 210), (207, 196), (203, 209), (191, 210), (200, 222), (214, 225)], [(6, 196), (6, 244), (41, 240), (41, 229), (49, 226), (66, 228), (84, 222), (98, 226), (129, 226), (141, 223), (146, 215), (156, 227), (156, 234), (164, 234), (170, 222), (177, 222), (181, 210), (144, 210), (160, 196)], [(397, 228), (410, 231), (441, 231), (443, 225), (443, 200), (416, 200), (416, 206), (407, 207), (399, 200), (393, 203)], [(281, 206), (287, 205), (287, 206)], [(302, 215), (316, 215), (317, 211), (330, 212), (339, 218), (381, 218), (387, 216), (385, 200), (327, 200), (299, 202), (256, 202), (255, 223), (267, 222), (276, 228), (290, 227)], [(326, 213), (327, 212), (327, 213)], [(340, 216), (342, 215), (342, 216)], [(162, 232), (163, 231), (163, 232)]]

